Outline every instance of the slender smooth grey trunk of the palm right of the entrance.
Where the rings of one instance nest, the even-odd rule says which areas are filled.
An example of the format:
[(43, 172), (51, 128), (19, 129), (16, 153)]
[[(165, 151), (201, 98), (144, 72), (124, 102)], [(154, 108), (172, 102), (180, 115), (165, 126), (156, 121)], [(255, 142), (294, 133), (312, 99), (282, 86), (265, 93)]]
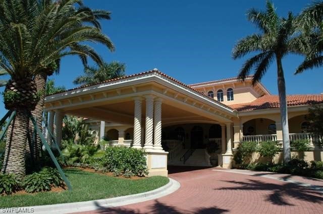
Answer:
[(289, 130), (288, 130), (286, 86), (285, 86), (282, 59), (280, 57), (277, 57), (277, 77), (278, 77), (278, 95), (279, 95), (279, 104), (280, 104), (280, 110), (281, 110), (282, 131), (283, 131), (284, 164), (287, 164), (288, 162), (291, 161), (291, 147), (290, 147)]

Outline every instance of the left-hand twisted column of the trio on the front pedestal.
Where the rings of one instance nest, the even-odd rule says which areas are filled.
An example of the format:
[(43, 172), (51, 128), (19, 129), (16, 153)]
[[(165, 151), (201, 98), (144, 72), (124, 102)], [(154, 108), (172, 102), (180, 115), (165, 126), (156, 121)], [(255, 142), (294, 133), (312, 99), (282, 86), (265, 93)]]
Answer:
[(141, 149), (141, 97), (135, 97), (135, 116), (133, 126), (133, 148)]

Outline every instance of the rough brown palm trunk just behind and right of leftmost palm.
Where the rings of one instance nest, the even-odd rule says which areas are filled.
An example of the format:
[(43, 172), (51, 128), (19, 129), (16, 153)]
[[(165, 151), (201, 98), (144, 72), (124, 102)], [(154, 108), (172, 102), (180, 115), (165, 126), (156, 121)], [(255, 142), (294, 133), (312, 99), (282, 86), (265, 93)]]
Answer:
[[(43, 109), (44, 109), (44, 100), (45, 100), (45, 88), (46, 88), (47, 74), (40, 74), (35, 76), (35, 83), (37, 87), (37, 92), (40, 93), (39, 101), (31, 113), (36, 119), (37, 126), (42, 130), (42, 120), (43, 120)], [(30, 122), (29, 124), (30, 133), (33, 133), (34, 126)], [(28, 145), (27, 145), (28, 146)], [(36, 135), (35, 145), (34, 145), (34, 158), (37, 160), (41, 156), (41, 139), (39, 135)]]

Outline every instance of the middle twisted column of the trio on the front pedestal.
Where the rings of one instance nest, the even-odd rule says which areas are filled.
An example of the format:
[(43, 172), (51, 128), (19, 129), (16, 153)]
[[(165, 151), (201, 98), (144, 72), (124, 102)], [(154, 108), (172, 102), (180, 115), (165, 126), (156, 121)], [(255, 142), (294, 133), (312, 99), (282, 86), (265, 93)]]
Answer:
[(153, 149), (153, 96), (146, 96), (146, 133), (145, 133), (145, 146), (146, 150)]

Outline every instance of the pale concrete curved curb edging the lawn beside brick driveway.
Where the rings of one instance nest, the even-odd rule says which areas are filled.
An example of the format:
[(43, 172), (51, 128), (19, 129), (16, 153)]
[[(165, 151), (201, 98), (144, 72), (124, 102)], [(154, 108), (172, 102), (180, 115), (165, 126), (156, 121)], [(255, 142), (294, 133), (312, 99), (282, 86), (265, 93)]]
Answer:
[(133, 194), (133, 195), (126, 195), (120, 196), (115, 198), (106, 198), (106, 199), (99, 199), (99, 200), (90, 200), (90, 201), (81, 201), (81, 202), (72, 202), (72, 203), (59, 203), (59, 204), (50, 204), (50, 205), (41, 205), (41, 206), (28, 206), (22, 207), (27, 209), (33, 209), (33, 213), (47, 213), (47, 214), (57, 214), (57, 213), (71, 213), (71, 212), (82, 212), (82, 211), (91, 211), (97, 210), (102, 208), (109, 208), (115, 206), (123, 206), (132, 203), (143, 202), (159, 197), (166, 196), (178, 190), (181, 184), (169, 178), (170, 182), (168, 184), (159, 187), (157, 189)]

